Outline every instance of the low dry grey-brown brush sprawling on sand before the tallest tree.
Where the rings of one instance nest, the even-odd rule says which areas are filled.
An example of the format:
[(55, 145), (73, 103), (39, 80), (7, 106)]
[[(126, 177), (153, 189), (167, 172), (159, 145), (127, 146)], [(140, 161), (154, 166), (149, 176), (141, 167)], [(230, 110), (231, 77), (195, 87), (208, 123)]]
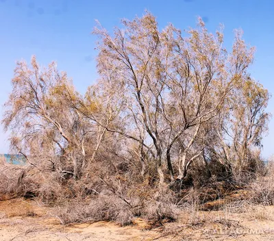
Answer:
[(129, 225), (136, 217), (155, 221), (175, 220), (179, 209), (172, 203), (174, 198), (170, 191), (165, 189), (162, 194), (150, 191), (148, 195), (153, 194), (152, 199), (144, 192), (136, 192), (136, 195), (129, 197), (105, 189), (94, 199), (74, 199), (60, 206), (57, 216), (62, 224), (114, 220), (120, 225)]

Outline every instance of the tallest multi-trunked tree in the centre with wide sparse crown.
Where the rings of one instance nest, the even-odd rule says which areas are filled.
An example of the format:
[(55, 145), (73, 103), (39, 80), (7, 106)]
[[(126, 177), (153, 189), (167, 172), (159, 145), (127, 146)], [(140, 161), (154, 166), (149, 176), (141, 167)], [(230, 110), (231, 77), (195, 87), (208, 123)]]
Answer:
[[(125, 28), (116, 28), (114, 36), (102, 27), (95, 29), (100, 38), (99, 73), (111, 73), (108, 83), (123, 98), (121, 116), (130, 121), (127, 128), (112, 131), (138, 142), (149, 153), (160, 185), (163, 160), (171, 180), (174, 173), (184, 179), (190, 164), (204, 152), (203, 146), (190, 151), (202, 126), (210, 125), (247, 73), (253, 49), (236, 32), (232, 53), (227, 53), (222, 31), (208, 33), (201, 19), (198, 29), (189, 29), (186, 37), (173, 25), (160, 31), (150, 13), (122, 23)], [(173, 170), (176, 160), (179, 165)]]

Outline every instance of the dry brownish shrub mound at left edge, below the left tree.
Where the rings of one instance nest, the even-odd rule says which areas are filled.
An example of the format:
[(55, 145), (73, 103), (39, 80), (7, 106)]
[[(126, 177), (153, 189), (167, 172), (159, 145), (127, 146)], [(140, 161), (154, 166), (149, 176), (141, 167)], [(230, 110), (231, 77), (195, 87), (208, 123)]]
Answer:
[(42, 173), (33, 166), (2, 163), (0, 179), (1, 199), (23, 196), (27, 199), (36, 198), (45, 204), (54, 204), (62, 203), (68, 196), (58, 175)]

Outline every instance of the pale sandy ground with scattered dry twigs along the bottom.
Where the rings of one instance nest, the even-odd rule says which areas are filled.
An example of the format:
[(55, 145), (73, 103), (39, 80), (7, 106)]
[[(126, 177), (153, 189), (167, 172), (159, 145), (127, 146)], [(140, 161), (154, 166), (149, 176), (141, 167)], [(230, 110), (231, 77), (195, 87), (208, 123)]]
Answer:
[(0, 240), (274, 240), (274, 207), (188, 210), (177, 222), (159, 227), (141, 219), (128, 227), (112, 222), (65, 226), (53, 213), (34, 201), (0, 201)]

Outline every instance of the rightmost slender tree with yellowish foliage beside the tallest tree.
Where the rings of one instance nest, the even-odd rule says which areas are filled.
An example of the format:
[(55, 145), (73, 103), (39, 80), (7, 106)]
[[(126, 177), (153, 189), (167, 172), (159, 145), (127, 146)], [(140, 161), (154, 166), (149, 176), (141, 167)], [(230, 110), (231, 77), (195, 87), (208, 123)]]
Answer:
[(229, 75), (235, 80), (234, 88), (214, 124), (217, 141), (212, 154), (229, 172), (250, 166), (254, 147), (260, 149), (270, 117), (266, 112), (269, 92), (251, 79), (248, 72), (255, 49), (247, 49), (242, 31), (236, 31), (229, 56)]

